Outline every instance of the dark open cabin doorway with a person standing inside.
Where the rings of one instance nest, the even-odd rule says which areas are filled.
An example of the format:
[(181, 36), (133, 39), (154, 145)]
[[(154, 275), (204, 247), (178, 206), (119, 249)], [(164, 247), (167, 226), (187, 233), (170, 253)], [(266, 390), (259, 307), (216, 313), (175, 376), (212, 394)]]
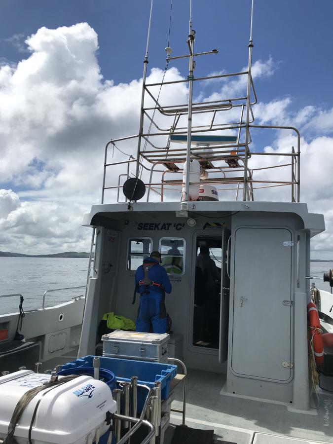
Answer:
[(219, 350), (219, 355), (224, 355), (227, 347), (225, 332), (227, 332), (229, 294), (225, 295), (225, 288), (228, 290), (229, 285), (226, 267), (226, 231), (223, 228), (217, 235), (197, 235), (194, 249), (192, 345)]

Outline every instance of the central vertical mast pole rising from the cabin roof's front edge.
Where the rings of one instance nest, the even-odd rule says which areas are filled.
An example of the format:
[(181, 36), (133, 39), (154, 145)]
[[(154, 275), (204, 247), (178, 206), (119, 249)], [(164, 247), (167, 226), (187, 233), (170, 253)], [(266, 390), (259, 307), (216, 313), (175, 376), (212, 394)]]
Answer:
[(192, 0), (189, 0), (189, 35), (187, 44), (189, 48), (189, 67), (188, 67), (188, 118), (187, 118), (187, 148), (186, 148), (186, 176), (185, 176), (185, 200), (189, 200), (189, 162), (191, 159), (191, 131), (192, 131), (192, 96), (193, 96), (193, 52), (194, 52), (194, 34), (192, 30)]

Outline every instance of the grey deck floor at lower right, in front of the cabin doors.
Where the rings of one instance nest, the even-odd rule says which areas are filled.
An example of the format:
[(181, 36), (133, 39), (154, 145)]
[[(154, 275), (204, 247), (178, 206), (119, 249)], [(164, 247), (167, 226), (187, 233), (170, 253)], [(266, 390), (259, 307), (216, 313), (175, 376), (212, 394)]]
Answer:
[[(333, 444), (332, 393), (319, 390), (318, 409), (304, 414), (289, 411), (283, 405), (222, 395), (225, 375), (219, 373), (189, 370), (187, 378), (186, 424), (214, 429), (215, 439), (249, 444), (256, 433), (262, 433)], [(173, 407), (181, 408), (181, 387), (175, 391)], [(181, 416), (172, 414), (170, 422), (180, 424)]]

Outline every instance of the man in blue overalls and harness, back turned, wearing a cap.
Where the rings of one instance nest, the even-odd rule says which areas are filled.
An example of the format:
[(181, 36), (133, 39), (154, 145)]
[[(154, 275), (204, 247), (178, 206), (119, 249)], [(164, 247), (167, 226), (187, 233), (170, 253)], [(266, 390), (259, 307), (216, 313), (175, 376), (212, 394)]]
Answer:
[(140, 307), (136, 322), (136, 331), (149, 333), (150, 325), (153, 333), (166, 333), (167, 318), (164, 297), (171, 293), (169, 276), (160, 265), (161, 255), (153, 251), (150, 257), (144, 259), (143, 264), (135, 273), (135, 303), (136, 293), (140, 293)]

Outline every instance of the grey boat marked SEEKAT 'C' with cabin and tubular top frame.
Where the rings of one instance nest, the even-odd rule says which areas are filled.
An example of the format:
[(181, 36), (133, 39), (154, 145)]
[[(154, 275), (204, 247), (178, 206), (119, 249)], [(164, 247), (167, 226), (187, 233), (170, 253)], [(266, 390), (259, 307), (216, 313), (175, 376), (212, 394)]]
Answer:
[[(195, 76), (195, 64), (216, 57), (218, 50), (195, 52), (199, 36), (193, 29), (189, 1), (186, 53), (174, 56), (168, 44), (161, 80), (148, 83), (152, 4), (151, 0), (139, 131), (107, 143), (101, 203), (93, 205), (83, 219), (83, 225), (92, 230), (85, 295), (50, 308), (43, 302), (41, 309), (26, 312), (24, 318), (22, 310), (1, 315), (3, 343), (14, 342), (15, 335), (20, 342), (22, 334), (29, 344), (25, 352), (22, 343), (18, 351), (14, 344), (14, 351), (3, 358), (8, 368), (1, 377), (8, 381), (7, 371), (17, 370), (24, 359), (30, 364), (36, 361), (38, 371), (42, 363), (43, 374), (51, 373), (50, 377), (88, 364), (93, 367), (94, 362), (106, 366), (125, 359), (130, 371), (140, 367), (131, 364), (140, 358), (147, 364), (146, 346), (134, 361), (126, 360), (128, 350), (119, 353), (119, 332), (111, 351), (106, 348), (111, 336), (97, 337), (97, 332), (105, 313), (136, 319), (135, 271), (158, 250), (172, 283), (172, 293), (166, 297), (172, 327), (169, 361), (152, 365), (169, 366), (165, 374), (176, 369), (178, 373), (163, 403), (159, 387), (151, 397), (148, 386), (148, 420), (137, 416), (136, 398), (131, 398), (134, 411), (133, 405), (129, 407), (128, 390), (132, 394), (136, 390), (133, 375), (124, 376), (125, 380), (118, 374), (121, 380), (112, 412), (115, 442), (124, 443), (130, 437), (134, 442), (136, 427), (145, 425), (148, 431), (142, 443), (174, 444), (175, 434), (180, 433), (176, 430), (186, 433), (185, 429), (194, 434), (199, 430), (197, 442), (202, 443), (333, 443), (332, 350), (326, 347), (321, 354), (313, 345), (314, 335), (333, 334), (333, 298), (332, 292), (316, 289), (310, 276), (310, 240), (325, 230), (324, 217), (308, 212), (300, 202), (298, 130), (255, 124), (253, 0), (246, 71)], [(169, 67), (183, 59), (188, 61), (187, 76), (165, 80)], [(194, 85), (235, 79), (246, 80), (243, 96), (193, 100)], [(184, 85), (187, 103), (162, 103), (162, 88)], [(259, 130), (270, 131), (273, 137), (277, 130), (293, 134), (296, 144), (285, 152), (251, 149)], [(132, 153), (137, 149), (136, 157), (112, 161), (113, 149), (128, 152), (128, 147)], [(287, 163), (279, 162), (282, 157)], [(289, 202), (256, 200), (257, 194), (261, 197), (276, 187), (290, 189)], [(208, 249), (219, 268), (220, 278), (213, 282), (208, 283), (198, 263), (200, 249)], [(332, 289), (332, 270), (327, 279)], [(308, 325), (311, 300), (321, 328)], [(131, 337), (137, 335), (141, 343), (140, 334)], [(328, 363), (320, 381), (316, 353)], [(26, 375), (18, 377), (22, 374)], [(84, 387), (90, 390), (89, 384)], [(75, 392), (76, 397), (85, 396), (84, 391)], [(143, 411), (147, 406), (146, 400)], [(86, 442), (98, 442), (98, 433), (96, 429)]]

